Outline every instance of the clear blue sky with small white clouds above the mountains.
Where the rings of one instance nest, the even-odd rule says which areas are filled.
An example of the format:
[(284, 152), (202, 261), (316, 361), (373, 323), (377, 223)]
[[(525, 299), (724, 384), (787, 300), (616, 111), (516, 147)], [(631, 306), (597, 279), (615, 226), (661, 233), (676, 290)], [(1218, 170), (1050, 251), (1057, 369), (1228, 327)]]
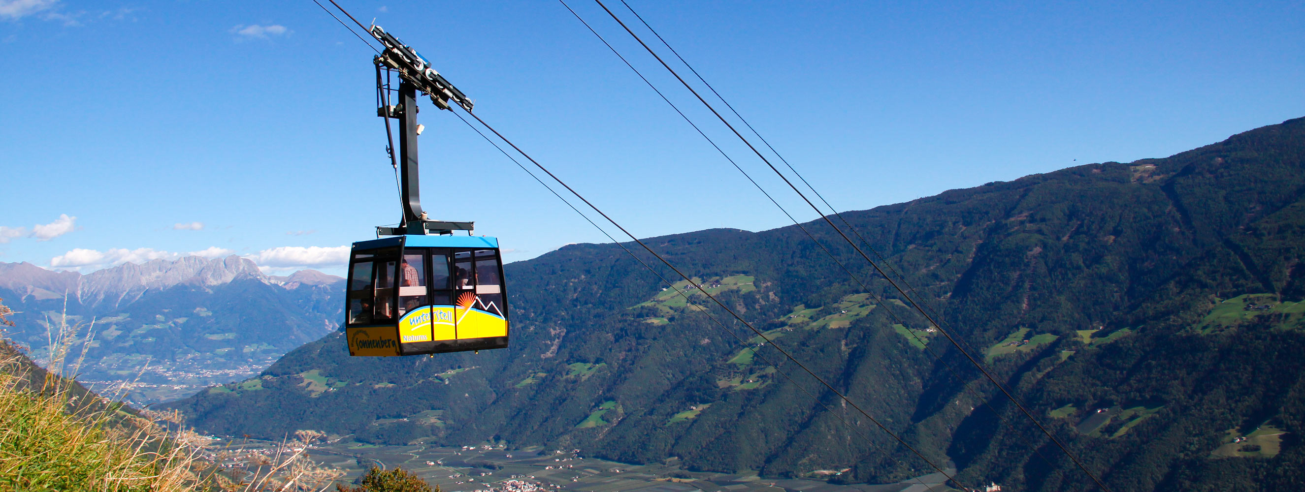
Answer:
[[(840, 210), (1305, 116), (1296, 1), (628, 1)], [(596, 4), (568, 3), (817, 217)], [(556, 1), (341, 4), (639, 236), (791, 223)], [(0, 261), (235, 253), (339, 274), (347, 244), (397, 222), (373, 54), (309, 0), (0, 0)], [(508, 260), (607, 240), (423, 110), (432, 217), (476, 221)]]

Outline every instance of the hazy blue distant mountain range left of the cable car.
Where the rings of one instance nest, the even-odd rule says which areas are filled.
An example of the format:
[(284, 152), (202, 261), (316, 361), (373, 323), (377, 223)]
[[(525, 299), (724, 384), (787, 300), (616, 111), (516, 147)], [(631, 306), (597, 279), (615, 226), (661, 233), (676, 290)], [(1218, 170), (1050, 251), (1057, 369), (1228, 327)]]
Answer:
[(341, 282), (313, 270), (264, 275), (238, 256), (153, 260), (85, 275), (0, 264), (0, 298), (21, 312), (10, 339), (42, 359), (67, 295), (68, 324), (78, 328), (78, 341), (90, 339), (78, 380), (100, 392), (129, 382), (141, 403), (247, 377), (337, 329)]

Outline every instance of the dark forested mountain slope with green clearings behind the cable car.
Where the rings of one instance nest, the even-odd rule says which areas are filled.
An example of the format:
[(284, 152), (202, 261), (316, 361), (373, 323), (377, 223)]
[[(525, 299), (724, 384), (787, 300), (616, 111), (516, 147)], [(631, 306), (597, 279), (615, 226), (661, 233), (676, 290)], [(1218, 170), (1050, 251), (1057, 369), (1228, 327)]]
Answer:
[[(1113, 491), (1285, 487), (1305, 480), (1302, 158), (1297, 119), (1164, 159), (1079, 166), (843, 217)], [(804, 227), (867, 287), (797, 227), (646, 243), (932, 459), (953, 459), (962, 482), (1087, 488), (834, 231), (822, 221)], [(258, 378), (174, 406), (202, 429), (232, 435), (497, 440), (632, 462), (676, 455), (701, 470), (851, 469), (837, 479), (855, 482), (925, 471), (847, 412), (870, 441), (851, 432), (617, 245), (566, 247), (506, 274), (508, 350), (348, 358), (337, 333)], [(792, 364), (780, 368), (847, 411)]]

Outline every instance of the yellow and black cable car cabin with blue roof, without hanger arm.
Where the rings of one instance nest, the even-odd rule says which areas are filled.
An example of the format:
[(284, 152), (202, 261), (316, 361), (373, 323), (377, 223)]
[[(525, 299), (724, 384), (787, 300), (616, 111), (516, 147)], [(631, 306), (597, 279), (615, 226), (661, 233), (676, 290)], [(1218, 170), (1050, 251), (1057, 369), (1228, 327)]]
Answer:
[(348, 355), (504, 348), (499, 240), (414, 235), (354, 243), (345, 316)]

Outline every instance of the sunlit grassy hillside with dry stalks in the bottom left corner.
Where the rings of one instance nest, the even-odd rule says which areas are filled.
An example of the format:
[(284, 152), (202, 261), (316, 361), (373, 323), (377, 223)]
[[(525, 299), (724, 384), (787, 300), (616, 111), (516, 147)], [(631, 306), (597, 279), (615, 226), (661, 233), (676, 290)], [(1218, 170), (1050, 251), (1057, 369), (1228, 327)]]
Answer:
[[(8, 313), (0, 303), (0, 326), (12, 326)], [(275, 452), (238, 455), (184, 428), (176, 412), (102, 398), (64, 377), (81, 367), (85, 350), (74, 345), (90, 326), (67, 317), (51, 326), (46, 367), (0, 338), (0, 492), (307, 492), (341, 478), (304, 454), (321, 433), (298, 432)], [(381, 485), (358, 491), (422, 491)]]

